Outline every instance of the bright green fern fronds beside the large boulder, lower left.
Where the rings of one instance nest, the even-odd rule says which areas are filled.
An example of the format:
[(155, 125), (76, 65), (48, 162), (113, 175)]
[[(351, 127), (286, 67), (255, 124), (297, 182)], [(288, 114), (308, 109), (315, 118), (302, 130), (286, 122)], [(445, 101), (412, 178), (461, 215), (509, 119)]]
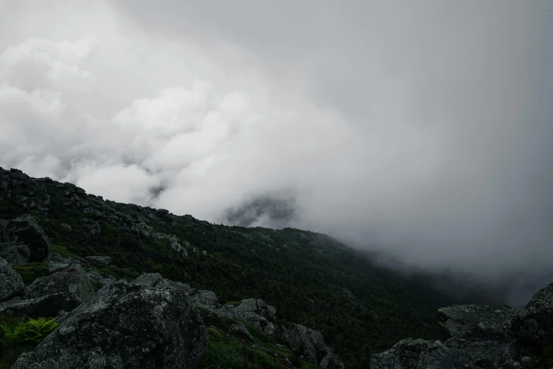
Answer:
[(6, 346), (26, 343), (37, 344), (58, 325), (54, 319), (44, 317), (20, 321), (16, 327), (1, 324), (0, 328), (4, 331), (1, 341)]

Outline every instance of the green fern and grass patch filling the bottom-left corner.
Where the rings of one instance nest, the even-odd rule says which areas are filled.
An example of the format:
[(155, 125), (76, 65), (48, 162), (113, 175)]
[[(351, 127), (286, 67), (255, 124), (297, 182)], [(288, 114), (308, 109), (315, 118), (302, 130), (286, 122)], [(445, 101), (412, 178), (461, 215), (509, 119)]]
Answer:
[(7, 369), (18, 356), (38, 344), (58, 324), (54, 319), (16, 320), (0, 315), (0, 369)]

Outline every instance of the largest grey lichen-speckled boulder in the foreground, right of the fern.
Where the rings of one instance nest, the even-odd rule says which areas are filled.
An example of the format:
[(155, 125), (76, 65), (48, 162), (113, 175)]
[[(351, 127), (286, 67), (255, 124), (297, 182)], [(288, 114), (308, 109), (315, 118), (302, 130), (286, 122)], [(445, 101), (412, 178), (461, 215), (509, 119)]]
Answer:
[(73, 310), (12, 369), (197, 368), (207, 341), (186, 294), (119, 281)]

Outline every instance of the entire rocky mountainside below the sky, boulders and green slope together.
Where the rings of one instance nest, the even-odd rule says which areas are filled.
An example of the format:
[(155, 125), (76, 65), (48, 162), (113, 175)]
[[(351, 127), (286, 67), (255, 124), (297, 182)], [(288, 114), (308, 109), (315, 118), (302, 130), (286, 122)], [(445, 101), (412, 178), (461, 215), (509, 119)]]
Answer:
[(0, 368), (553, 366), (553, 284), (520, 310), (451, 305), (356, 262), (324, 235), (217, 228), (0, 168), (0, 322), (59, 324)]

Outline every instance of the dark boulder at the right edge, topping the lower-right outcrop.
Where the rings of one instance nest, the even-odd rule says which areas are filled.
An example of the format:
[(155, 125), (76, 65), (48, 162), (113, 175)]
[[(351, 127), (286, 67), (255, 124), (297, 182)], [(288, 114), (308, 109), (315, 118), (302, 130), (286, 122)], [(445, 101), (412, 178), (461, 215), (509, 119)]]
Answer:
[(513, 317), (511, 334), (540, 347), (553, 345), (553, 283), (537, 291)]

